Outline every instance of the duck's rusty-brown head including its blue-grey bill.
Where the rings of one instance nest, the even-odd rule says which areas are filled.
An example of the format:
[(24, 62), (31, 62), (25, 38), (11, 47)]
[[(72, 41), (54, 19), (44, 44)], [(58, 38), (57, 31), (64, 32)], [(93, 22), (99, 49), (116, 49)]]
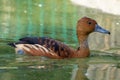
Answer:
[(97, 22), (91, 18), (83, 17), (78, 20), (77, 23), (77, 35), (78, 38), (86, 38), (92, 32), (100, 32), (104, 34), (110, 34), (108, 30), (103, 29), (97, 24)]

